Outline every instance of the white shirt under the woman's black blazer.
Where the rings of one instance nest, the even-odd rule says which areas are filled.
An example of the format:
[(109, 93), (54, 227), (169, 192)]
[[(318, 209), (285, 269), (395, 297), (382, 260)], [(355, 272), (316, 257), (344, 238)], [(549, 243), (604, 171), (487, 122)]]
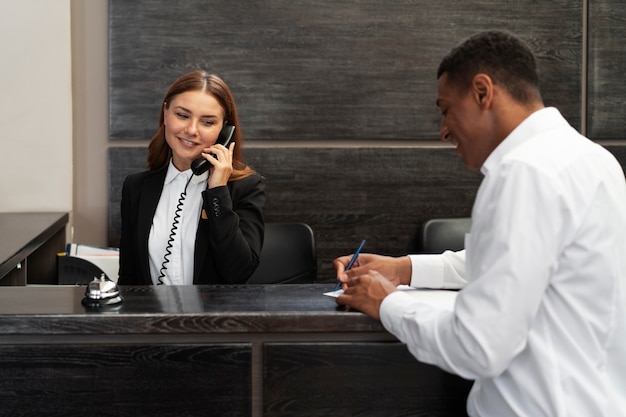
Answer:
[[(159, 284), (159, 276), (167, 253), (166, 249), (181, 193), (185, 191), (185, 186), (191, 175), (191, 169), (181, 172), (170, 161), (148, 237), (150, 275), (154, 284)], [(187, 185), (187, 192), (182, 200), (182, 209), (179, 213), (180, 217), (176, 222), (176, 230), (171, 247), (169, 247), (171, 253), (167, 256), (168, 262), (165, 263), (164, 276), (161, 278), (164, 284), (193, 284), (196, 233), (202, 210), (202, 191), (206, 189), (207, 178), (207, 173), (194, 176)]]

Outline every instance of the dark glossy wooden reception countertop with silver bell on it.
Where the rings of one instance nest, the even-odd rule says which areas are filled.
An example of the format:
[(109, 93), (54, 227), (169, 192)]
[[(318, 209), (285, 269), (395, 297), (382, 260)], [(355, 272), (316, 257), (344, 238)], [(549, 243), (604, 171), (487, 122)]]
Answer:
[[(344, 340), (370, 333), (392, 338), (382, 324), (355, 312), (338, 310), (322, 294), (328, 284), (188, 285), (121, 287), (124, 302), (90, 309), (81, 304), (85, 287), (7, 287), (0, 291), (0, 334), (54, 336), (159, 336), (177, 343), (182, 336), (288, 333), (336, 334)], [(143, 339), (142, 339), (143, 340)], [(247, 340), (247, 339), (246, 339)], [(0, 344), (6, 343), (0, 339)]]

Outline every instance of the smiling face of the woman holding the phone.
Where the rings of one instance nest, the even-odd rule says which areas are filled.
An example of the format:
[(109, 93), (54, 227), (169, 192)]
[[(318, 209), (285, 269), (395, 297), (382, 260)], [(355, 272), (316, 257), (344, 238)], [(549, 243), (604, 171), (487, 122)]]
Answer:
[(174, 166), (185, 171), (204, 148), (217, 140), (224, 124), (224, 109), (208, 93), (187, 91), (174, 96), (163, 111), (165, 140), (172, 149)]

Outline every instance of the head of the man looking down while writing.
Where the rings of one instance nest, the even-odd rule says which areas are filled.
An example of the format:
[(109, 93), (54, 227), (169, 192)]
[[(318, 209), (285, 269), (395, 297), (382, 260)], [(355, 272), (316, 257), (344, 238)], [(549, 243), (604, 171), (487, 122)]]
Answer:
[(535, 57), (508, 32), (470, 37), (443, 58), (437, 78), (441, 139), (455, 144), (471, 169), (543, 107)]

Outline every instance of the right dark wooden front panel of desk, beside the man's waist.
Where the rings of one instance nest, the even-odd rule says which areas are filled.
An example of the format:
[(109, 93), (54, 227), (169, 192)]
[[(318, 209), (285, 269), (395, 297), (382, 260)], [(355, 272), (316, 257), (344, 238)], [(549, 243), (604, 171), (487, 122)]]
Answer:
[(471, 381), (400, 343), (266, 344), (263, 385), (265, 417), (459, 417)]

